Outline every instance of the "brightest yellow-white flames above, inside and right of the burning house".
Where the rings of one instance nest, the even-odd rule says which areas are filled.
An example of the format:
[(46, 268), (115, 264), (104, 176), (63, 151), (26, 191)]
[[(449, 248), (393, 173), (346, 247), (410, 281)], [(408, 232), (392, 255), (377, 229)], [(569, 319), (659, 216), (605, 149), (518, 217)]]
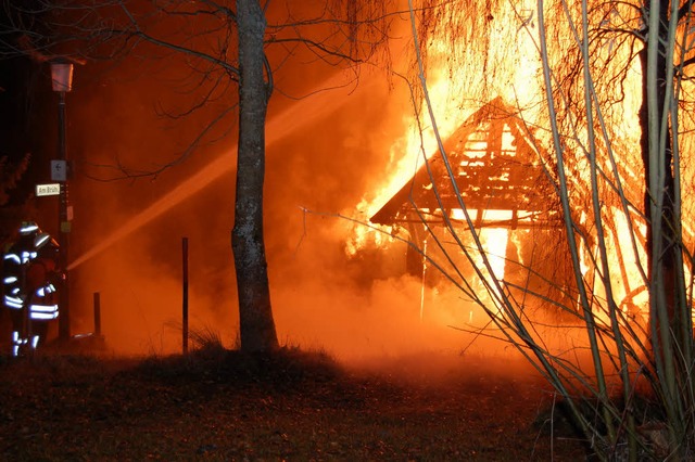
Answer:
[[(437, 128), (442, 141), (446, 140), (473, 111), (480, 107), (483, 101), (479, 99), (486, 98), (488, 101), (491, 99), (481, 97), (482, 94), (501, 97), (504, 101), (513, 103), (520, 111), (520, 116), (525, 120), (538, 121), (542, 118), (540, 112), (543, 107), (544, 90), (540, 78), (541, 61), (533, 37), (535, 34), (535, 26), (533, 25), (534, 8), (534, 2), (520, 2), (514, 12), (495, 13), (494, 33), (486, 43), (486, 55), (482, 61), (473, 61), (478, 65), (483, 62), (484, 68), (491, 69), (493, 73), (492, 81), (486, 80), (483, 86), (485, 91), (480, 91), (479, 88), (458, 88), (457, 85), (467, 85), (470, 84), (470, 80), (460, 79), (462, 81), (457, 81), (457, 75), (481, 75), (482, 69), (467, 68), (464, 65), (457, 72), (448, 73), (447, 69), (451, 64), (448, 61), (448, 42), (445, 39), (438, 38), (430, 43), (428, 54), (431, 61), (429, 62), (427, 93), (432, 104)], [(525, 27), (530, 27), (531, 34)], [(626, 84), (627, 88), (631, 82), (632, 85), (639, 85), (640, 78), (636, 65), (635, 62), (632, 62), (629, 79)], [(482, 76), (481, 78), (486, 77)], [(464, 80), (466, 84), (463, 82)], [(624, 99), (622, 111), (629, 114), (636, 114), (637, 105), (640, 104), (640, 98), (636, 98), (639, 91), (633, 89), (627, 93), (628, 97)], [(428, 114), (428, 108), (424, 105), (419, 108), (419, 113), (426, 115)], [(639, 140), (636, 138), (635, 117), (626, 117), (624, 120), (624, 126), (617, 127), (616, 132), (622, 133), (621, 139), (628, 145), (636, 144)], [(533, 123), (530, 125), (533, 125)], [(407, 131), (395, 140), (391, 146), (388, 177), (383, 178), (381, 183), (376, 184), (359, 202), (357, 206), (357, 209), (361, 210), (361, 216), (357, 218), (358, 221), (366, 222), (368, 217), (379, 210), (406, 181), (414, 177), (414, 172), (424, 162), (424, 154), (432, 156), (437, 153), (438, 142), (429, 119), (420, 119), (418, 124), (415, 116), (408, 116), (407, 126)], [(513, 152), (515, 150), (513, 141), (511, 137), (505, 133), (502, 139), (502, 150)], [(544, 142), (547, 141), (544, 140)], [(611, 170), (607, 161), (599, 162), (603, 163), (602, 168), (604, 171)], [(639, 169), (641, 164), (639, 162), (627, 164), (624, 175), (627, 175), (628, 181), (640, 178), (641, 171)], [(634, 167), (635, 171), (631, 169), (632, 167)], [(587, 180), (585, 178), (587, 174), (581, 169), (578, 169), (572, 175), (576, 175), (573, 181), (578, 183)], [(639, 182), (639, 180), (635, 181)], [(462, 209), (447, 211), (452, 219), (464, 221)], [(473, 217), (478, 215), (478, 211), (476, 209), (468, 210), (469, 215)], [(509, 222), (511, 220), (511, 210), (481, 210), (481, 213), (488, 222), (495, 220)], [(518, 214), (523, 216), (531, 213), (518, 210)], [(582, 214), (584, 215), (580, 222), (591, 226), (592, 219), (589, 219), (584, 211)], [(610, 267), (616, 270), (611, 274), (611, 280), (616, 286), (620, 287), (620, 293), (616, 294), (616, 297), (619, 300), (623, 300), (621, 309), (627, 312), (628, 310), (635, 310), (636, 306), (645, 306), (645, 295), (644, 293), (640, 294), (637, 290), (637, 287), (643, 286), (644, 281), (641, 273), (635, 269), (637, 265), (645, 261), (642, 248), (645, 235), (644, 223), (636, 224), (640, 254), (635, 256), (632, 247), (628, 244), (631, 239), (624, 214), (622, 210), (616, 209), (612, 213), (612, 235), (608, 240), (608, 257)], [(346, 245), (346, 252), (349, 255), (354, 255), (367, 245), (386, 246), (392, 242), (391, 233), (393, 231), (392, 229), (374, 226), (356, 226), (353, 230), (352, 239)], [(486, 255), (492, 269), (492, 274), (490, 275), (496, 280), (504, 279), (507, 265), (506, 253), (511, 239), (508, 226), (501, 224), (495, 227), (494, 224), (488, 224), (476, 231), (479, 233), (482, 251)], [(582, 253), (584, 254), (582, 255), (584, 259), (582, 272), (587, 278), (586, 253), (591, 252), (593, 251), (582, 247)], [(481, 264), (480, 257), (477, 262)], [(597, 288), (597, 295), (601, 296), (601, 287)], [(604, 315), (599, 312), (598, 316), (601, 318)], [(470, 320), (472, 320), (472, 312)]]

